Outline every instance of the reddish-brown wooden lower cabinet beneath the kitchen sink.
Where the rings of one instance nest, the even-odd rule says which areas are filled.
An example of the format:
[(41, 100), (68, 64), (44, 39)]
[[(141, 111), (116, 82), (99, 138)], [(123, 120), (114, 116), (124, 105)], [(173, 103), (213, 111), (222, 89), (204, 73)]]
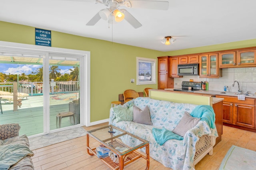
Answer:
[(223, 101), (223, 124), (255, 131), (255, 99), (238, 100), (237, 97), (218, 96)]

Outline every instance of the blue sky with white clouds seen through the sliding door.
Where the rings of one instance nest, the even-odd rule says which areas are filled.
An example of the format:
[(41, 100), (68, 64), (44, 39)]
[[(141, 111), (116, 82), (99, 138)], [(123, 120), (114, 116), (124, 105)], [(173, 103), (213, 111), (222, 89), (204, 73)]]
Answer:
[[(31, 74), (32, 72), (36, 72), (38, 68), (42, 67), (42, 65), (33, 65), (33, 64), (0, 64), (0, 72), (4, 74), (22, 74), (26, 75)], [(61, 70), (59, 71), (61, 74), (70, 73), (69, 69), (73, 68), (72, 66), (58, 66)]]

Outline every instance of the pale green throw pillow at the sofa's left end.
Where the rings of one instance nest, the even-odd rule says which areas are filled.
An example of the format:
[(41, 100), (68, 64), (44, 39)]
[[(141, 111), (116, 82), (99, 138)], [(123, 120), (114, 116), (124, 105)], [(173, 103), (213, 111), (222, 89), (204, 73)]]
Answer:
[(128, 108), (124, 107), (113, 107), (114, 114), (116, 116), (116, 122), (118, 121), (132, 121), (133, 118), (133, 105)]

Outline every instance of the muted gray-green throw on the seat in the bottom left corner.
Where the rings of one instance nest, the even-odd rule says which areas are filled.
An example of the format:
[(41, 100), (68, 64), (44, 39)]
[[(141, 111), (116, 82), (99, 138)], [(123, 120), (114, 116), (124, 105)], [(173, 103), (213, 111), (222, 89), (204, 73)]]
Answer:
[(0, 145), (0, 170), (8, 170), (27, 155), (33, 156), (34, 153), (22, 143)]

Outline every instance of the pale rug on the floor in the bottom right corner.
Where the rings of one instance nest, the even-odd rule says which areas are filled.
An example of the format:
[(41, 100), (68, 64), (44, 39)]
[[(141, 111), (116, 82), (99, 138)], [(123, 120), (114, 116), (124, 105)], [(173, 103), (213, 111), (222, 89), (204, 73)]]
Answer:
[(256, 152), (233, 145), (223, 158), (219, 170), (256, 170)]

